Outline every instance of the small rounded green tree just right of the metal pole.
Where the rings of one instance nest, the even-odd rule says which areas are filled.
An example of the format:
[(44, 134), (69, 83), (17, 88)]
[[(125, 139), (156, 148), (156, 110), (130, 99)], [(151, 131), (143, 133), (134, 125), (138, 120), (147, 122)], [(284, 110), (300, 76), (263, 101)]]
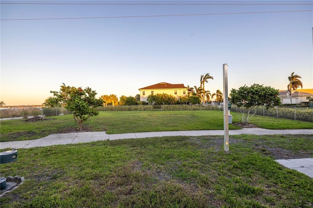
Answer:
[(279, 105), (281, 101), (278, 95), (277, 89), (254, 83), (249, 87), (245, 85), (239, 89), (231, 89), (229, 101), (237, 106), (242, 114), (239, 120), (246, 125), (255, 114), (255, 112), (252, 115), (250, 114), (253, 108), (261, 105), (267, 108)]

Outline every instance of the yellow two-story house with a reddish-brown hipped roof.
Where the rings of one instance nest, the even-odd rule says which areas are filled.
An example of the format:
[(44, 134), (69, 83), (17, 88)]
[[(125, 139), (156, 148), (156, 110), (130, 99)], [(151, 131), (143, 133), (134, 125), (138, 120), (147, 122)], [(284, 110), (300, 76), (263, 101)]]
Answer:
[(187, 96), (188, 89), (189, 87), (185, 87), (184, 84), (157, 83), (138, 90), (140, 91), (140, 101), (147, 101), (149, 95), (162, 93), (174, 95), (175, 97)]

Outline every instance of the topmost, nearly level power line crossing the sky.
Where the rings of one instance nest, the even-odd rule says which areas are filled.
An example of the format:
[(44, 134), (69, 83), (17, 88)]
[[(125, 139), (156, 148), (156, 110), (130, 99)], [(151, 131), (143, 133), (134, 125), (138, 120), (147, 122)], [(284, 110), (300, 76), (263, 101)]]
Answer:
[(313, 3), (0, 3), (0, 4), (38, 4), (38, 5), (313, 5)]

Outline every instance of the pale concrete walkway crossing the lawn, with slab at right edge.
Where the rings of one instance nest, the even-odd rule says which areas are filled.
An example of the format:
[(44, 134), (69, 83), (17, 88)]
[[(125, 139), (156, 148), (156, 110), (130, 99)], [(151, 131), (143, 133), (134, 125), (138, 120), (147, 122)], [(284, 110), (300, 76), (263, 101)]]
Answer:
[[(313, 129), (287, 129), (270, 130), (263, 128), (243, 128), (239, 130), (229, 130), (229, 135), (254, 134), (254, 135), (284, 135), (284, 134), (313, 134)], [(126, 134), (107, 134), (100, 132), (80, 132), (68, 134), (51, 134), (41, 139), (24, 140), (15, 142), (1, 142), (0, 148), (31, 148), (37, 146), (67, 145), (77, 143), (87, 143), (94, 141), (136, 139), (148, 137), (164, 136), (205, 136), (205, 135), (224, 135), (224, 130), (194, 130), (194, 131), (156, 131)], [(313, 158), (276, 160), (283, 166), (296, 169), (313, 178)]]

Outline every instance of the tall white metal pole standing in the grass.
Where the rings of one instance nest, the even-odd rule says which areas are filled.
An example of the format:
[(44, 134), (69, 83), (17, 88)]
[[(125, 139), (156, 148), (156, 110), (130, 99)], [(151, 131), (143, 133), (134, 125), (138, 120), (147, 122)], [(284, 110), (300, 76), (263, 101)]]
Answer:
[(228, 134), (228, 72), (227, 63), (223, 64), (223, 83), (224, 83), (224, 151), (229, 151), (229, 134)]

